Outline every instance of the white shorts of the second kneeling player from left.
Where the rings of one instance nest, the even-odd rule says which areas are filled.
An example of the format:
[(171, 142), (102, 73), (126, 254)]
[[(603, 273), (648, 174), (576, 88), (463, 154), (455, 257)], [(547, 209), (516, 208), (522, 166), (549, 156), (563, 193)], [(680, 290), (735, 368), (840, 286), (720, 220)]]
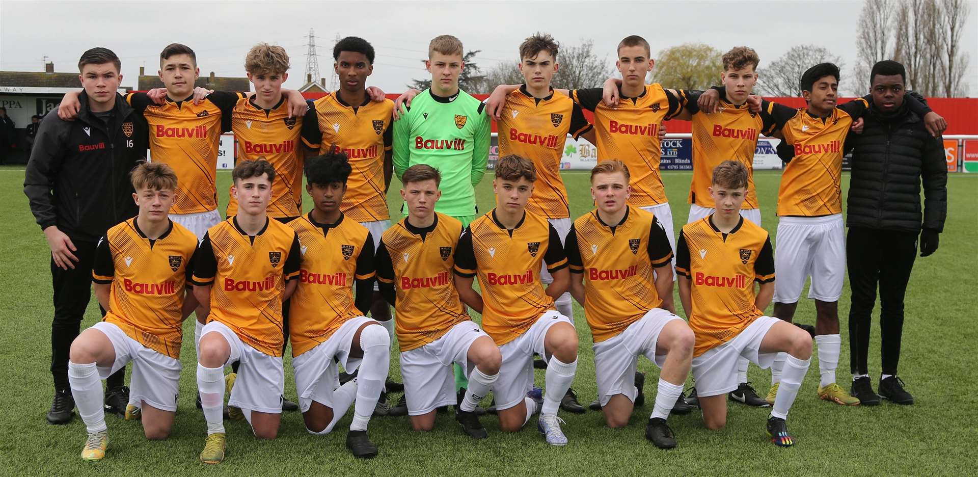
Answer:
[(241, 362), (235, 387), (231, 389), (231, 397), (228, 399), (228, 406), (272, 414), (281, 413), (282, 390), (286, 385), (282, 357), (266, 355), (252, 348), (221, 322), (203, 325), (200, 337), (211, 331), (221, 333), (231, 347), (231, 356), (224, 364)]

